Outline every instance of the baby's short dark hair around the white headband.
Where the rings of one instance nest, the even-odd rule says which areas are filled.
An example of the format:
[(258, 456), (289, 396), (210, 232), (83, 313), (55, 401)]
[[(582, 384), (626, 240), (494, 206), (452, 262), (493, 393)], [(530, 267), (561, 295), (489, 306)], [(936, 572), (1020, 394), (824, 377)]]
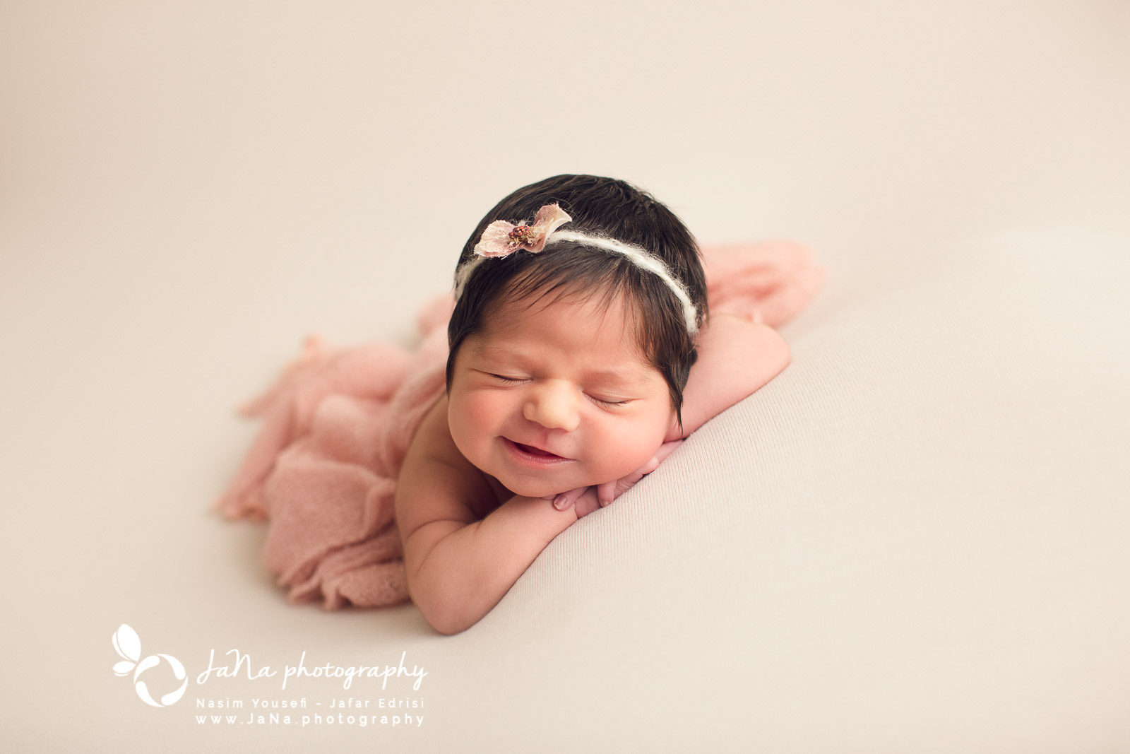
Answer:
[[(463, 246), (459, 266), (475, 257), (475, 244), (494, 220), (529, 222), (538, 209), (553, 203), (573, 218), (563, 229), (634, 244), (661, 259), (686, 286), (697, 310), (697, 323), (705, 321), (706, 275), (694, 236), (670, 209), (616, 179), (555, 175), (519, 189), (479, 222)], [(487, 259), (471, 272), (447, 324), (447, 389), (459, 347), (483, 329), (485, 319), (501, 304), (565, 294), (599, 295), (606, 303), (624, 301), (635, 320), (641, 350), (667, 381), (681, 425), (683, 389), (697, 357), (683, 304), (654, 272), (623, 254), (573, 241), (555, 242), (537, 254), (520, 251), (504, 259)]]

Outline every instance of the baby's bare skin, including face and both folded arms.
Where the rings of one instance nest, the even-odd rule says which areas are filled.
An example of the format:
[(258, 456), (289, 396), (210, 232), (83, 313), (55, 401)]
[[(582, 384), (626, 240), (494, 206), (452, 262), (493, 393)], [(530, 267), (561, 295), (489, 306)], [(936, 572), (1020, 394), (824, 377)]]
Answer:
[[(546, 309), (559, 305), (562, 302)], [(610, 489), (617, 479), (625, 478), (631, 479), (627, 485), (631, 486), (640, 471), (653, 468), (652, 461), (657, 452), (662, 452), (664, 442), (697, 430), (768, 382), (789, 362), (789, 348), (773, 329), (736, 317), (713, 318), (697, 339), (699, 356), (684, 391), (680, 431), (669, 399), (666, 413), (654, 402), (646, 402), (659, 393), (652, 390), (654, 385), (643, 372), (632, 372), (633, 379), (638, 380), (634, 384), (618, 384), (618, 395), (598, 396), (601, 401), (624, 397), (627, 400), (624, 405), (606, 406), (591, 400), (590, 392), (612, 391), (593, 383), (588, 366), (610, 363), (624, 366), (624, 359), (617, 362), (617, 358), (629, 353), (624, 350), (616, 319), (610, 320), (611, 330), (605, 331), (600, 328), (607, 329), (607, 318), (597, 327), (596, 320), (585, 320), (586, 312), (576, 309), (549, 313), (555, 319), (544, 323), (548, 331), (537, 330), (538, 343), (550, 344), (548, 350), (527, 348), (529, 364), (505, 363), (497, 367), (514, 372), (506, 374), (507, 379), (520, 380), (496, 388), (489, 382), (476, 383), (483, 373), (496, 367), (475, 363), (471, 372), (463, 374), (468, 382), (461, 383), (457, 371), (452, 384), (457, 406), (452, 408), (447, 397), (437, 401), (420, 424), (405, 459), (397, 486), (395, 514), (408, 588), (425, 619), (442, 633), (458, 633), (478, 622), (554, 537), (597, 508), (597, 488), (585, 485), (610, 483), (605, 487)], [(577, 350), (570, 340), (570, 331), (558, 332), (555, 341), (555, 321), (566, 322), (574, 330), (588, 322), (597, 331), (582, 327), (581, 341), (586, 347)], [(602, 332), (607, 343), (601, 343)], [(522, 352), (523, 332), (515, 330), (510, 335), (516, 338), (515, 348)], [(463, 358), (462, 352), (459, 358)], [(527, 366), (529, 375), (518, 373)], [(644, 366), (653, 369), (645, 362)], [(484, 392), (476, 402), (473, 390), (479, 389)], [(461, 392), (464, 390), (471, 392)], [(662, 391), (666, 395), (666, 383)], [(633, 407), (634, 401), (640, 404)], [(514, 410), (518, 416), (490, 413)], [(483, 415), (463, 415), (475, 411)], [(463, 440), (464, 449), (495, 475), (480, 470), (461, 452), (452, 435), (453, 424), (461, 433), (471, 433)], [(473, 434), (480, 426), (481, 436)], [(492, 434), (495, 432), (501, 439)], [(510, 441), (505, 435), (515, 433), (521, 433), (521, 437), (514, 439), (516, 442), (540, 443), (540, 448), (551, 445), (549, 450), (564, 460), (550, 457), (545, 461), (545, 473), (538, 474), (537, 457), (515, 453), (506, 444)], [(588, 434), (577, 435), (583, 437), (582, 442), (573, 442), (572, 433)], [(591, 474), (606, 478), (593, 478)], [(514, 494), (515, 489), (502, 479), (527, 495)], [(565, 510), (557, 510), (545, 499), (570, 489), (576, 504)]]

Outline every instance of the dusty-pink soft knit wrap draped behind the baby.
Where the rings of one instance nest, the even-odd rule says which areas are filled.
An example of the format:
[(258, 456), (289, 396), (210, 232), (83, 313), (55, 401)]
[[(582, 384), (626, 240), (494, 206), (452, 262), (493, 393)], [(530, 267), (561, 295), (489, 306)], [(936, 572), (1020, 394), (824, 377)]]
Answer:
[[(703, 249), (711, 312), (777, 327), (824, 278), (806, 249), (786, 242)], [(267, 566), (294, 603), (327, 609), (408, 599), (393, 520), (397, 475), (424, 414), (442, 395), (453, 301), (419, 317), (415, 353), (371, 344), (331, 349), (310, 338), (263, 396), (242, 409), (262, 430), (217, 506), (227, 518), (268, 519)]]

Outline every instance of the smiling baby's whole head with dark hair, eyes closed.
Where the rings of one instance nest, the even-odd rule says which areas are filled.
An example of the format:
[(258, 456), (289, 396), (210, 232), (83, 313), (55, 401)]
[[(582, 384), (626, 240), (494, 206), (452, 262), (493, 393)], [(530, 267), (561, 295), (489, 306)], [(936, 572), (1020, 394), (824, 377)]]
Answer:
[[(541, 251), (476, 253), (493, 222), (522, 225), (549, 205), (570, 219)], [(494, 474), (513, 492), (610, 482), (642, 466), (679, 423), (694, 336), (706, 318), (706, 283), (694, 237), (649, 194), (591, 175), (519, 189), (479, 223), (455, 279), (447, 329), (452, 436), (485, 471), (494, 471), (489, 457), (497, 451), (501, 463), (529, 467), (531, 479), (554, 479), (542, 491)], [(602, 458), (580, 462), (608, 443)], [(616, 476), (596, 478), (609, 474)], [(572, 486), (550, 488), (563, 483)]]

